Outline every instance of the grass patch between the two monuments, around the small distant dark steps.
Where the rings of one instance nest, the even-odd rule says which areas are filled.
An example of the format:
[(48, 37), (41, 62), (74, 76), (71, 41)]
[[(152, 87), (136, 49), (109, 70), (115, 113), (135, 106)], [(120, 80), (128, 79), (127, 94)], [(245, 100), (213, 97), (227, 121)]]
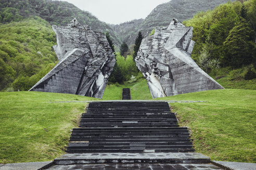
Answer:
[(151, 100), (152, 96), (148, 89), (146, 79), (139, 79), (133, 83), (109, 84), (103, 95), (103, 100), (121, 100), (122, 89), (130, 88), (132, 100)]

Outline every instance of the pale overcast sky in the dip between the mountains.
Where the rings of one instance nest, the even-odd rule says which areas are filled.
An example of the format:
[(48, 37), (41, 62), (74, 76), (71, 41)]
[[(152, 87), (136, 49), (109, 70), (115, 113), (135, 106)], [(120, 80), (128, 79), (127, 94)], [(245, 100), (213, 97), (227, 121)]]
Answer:
[(146, 18), (159, 4), (170, 0), (61, 0), (91, 12), (100, 21), (120, 24)]

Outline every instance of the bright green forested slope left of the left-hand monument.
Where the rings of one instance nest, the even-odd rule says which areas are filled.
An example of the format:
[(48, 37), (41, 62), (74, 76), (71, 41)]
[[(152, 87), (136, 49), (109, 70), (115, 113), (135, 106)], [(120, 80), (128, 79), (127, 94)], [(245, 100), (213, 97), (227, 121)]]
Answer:
[(29, 90), (46, 75), (58, 60), (55, 36), (40, 17), (1, 24), (0, 90)]

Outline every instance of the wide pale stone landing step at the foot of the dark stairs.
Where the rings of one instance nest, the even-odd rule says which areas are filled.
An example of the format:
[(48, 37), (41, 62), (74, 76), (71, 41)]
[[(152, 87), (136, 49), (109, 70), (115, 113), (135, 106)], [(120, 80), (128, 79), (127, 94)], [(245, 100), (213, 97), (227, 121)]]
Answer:
[[(145, 150), (147, 152), (142, 153), (67, 153), (62, 155), (60, 158), (54, 160), (54, 164), (56, 165), (68, 165), (68, 164), (92, 164), (92, 163), (122, 163), (122, 168), (120, 169), (128, 169), (125, 167), (125, 163), (200, 163), (199, 165), (202, 167), (202, 163), (210, 163), (210, 159), (200, 153), (173, 153), (173, 152), (152, 152), (153, 150)], [(129, 164), (128, 164), (129, 165)], [(155, 164), (154, 164), (155, 165)], [(164, 165), (163, 165), (164, 166)], [(114, 166), (116, 167), (116, 166)], [(131, 167), (131, 165), (129, 165)], [(150, 166), (155, 167), (155, 166)], [(161, 166), (162, 167), (162, 166)], [(182, 166), (175, 166), (182, 167)], [(112, 166), (109, 169), (113, 169)], [(132, 169), (132, 168), (129, 168)], [(141, 168), (143, 169), (143, 168)], [(148, 169), (145, 168), (145, 169)], [(167, 168), (168, 169), (168, 168)], [(172, 167), (169, 169), (173, 169)], [(180, 168), (187, 169), (187, 168)], [(202, 168), (201, 168), (202, 169)]]

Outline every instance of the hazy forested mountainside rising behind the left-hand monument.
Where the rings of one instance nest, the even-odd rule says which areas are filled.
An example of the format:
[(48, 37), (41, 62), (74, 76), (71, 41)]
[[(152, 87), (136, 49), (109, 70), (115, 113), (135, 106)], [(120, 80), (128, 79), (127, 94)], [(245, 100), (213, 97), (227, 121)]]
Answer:
[(29, 16), (39, 16), (50, 25), (66, 25), (76, 18), (81, 24), (87, 24), (94, 31), (105, 33), (108, 31), (113, 37), (114, 43), (120, 45), (120, 38), (112, 30), (111, 26), (99, 21), (87, 11), (83, 11), (68, 2), (52, 0), (1, 0), (0, 22), (20, 21)]

